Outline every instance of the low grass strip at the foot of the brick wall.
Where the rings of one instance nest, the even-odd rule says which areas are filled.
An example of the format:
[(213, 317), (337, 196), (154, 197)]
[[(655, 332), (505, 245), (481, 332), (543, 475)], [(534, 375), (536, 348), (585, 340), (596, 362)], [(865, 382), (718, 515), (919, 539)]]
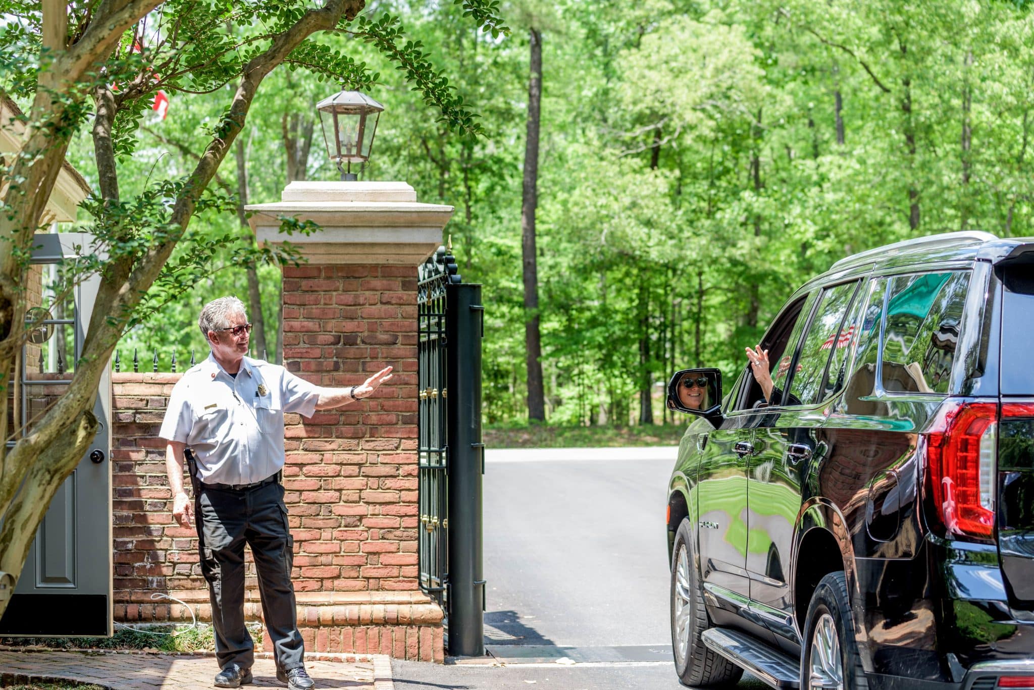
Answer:
[[(248, 625), (248, 632), (262, 651), (262, 627)], [(156, 634), (164, 633), (164, 634)], [(176, 633), (176, 634), (169, 634)], [(55, 650), (141, 650), (144, 652), (213, 652), (215, 638), (211, 625), (148, 625), (115, 628), (111, 637), (0, 637), (9, 647), (45, 647)]]

